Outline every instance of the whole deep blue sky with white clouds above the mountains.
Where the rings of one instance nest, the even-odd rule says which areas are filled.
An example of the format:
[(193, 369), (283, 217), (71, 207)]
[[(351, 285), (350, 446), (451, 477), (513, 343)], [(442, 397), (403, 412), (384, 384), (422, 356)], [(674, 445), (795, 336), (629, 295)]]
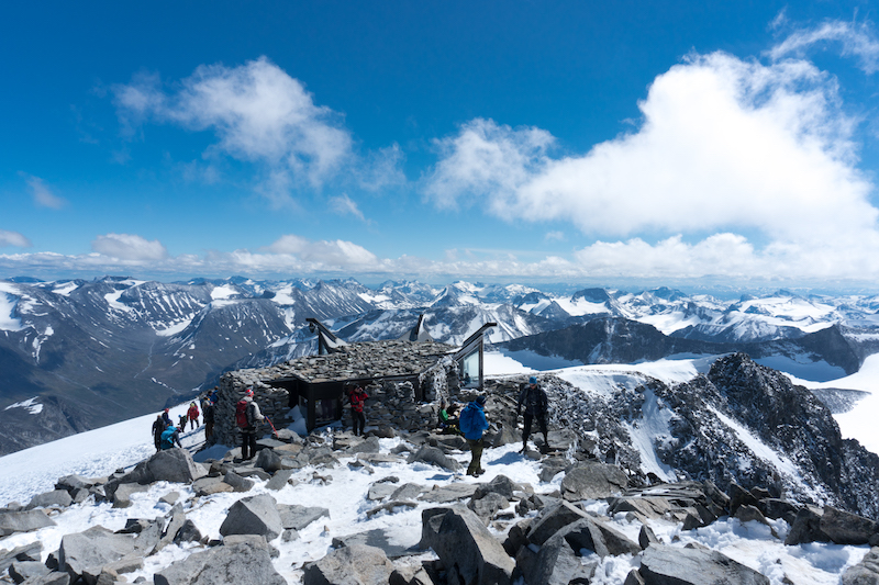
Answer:
[(0, 8), (0, 278), (872, 286), (868, 2)]

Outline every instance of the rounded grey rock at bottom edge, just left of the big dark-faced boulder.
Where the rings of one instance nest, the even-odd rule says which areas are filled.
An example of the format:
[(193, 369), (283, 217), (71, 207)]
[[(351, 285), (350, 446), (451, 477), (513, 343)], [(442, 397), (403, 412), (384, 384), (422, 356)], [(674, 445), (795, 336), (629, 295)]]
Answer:
[(393, 564), (385, 551), (367, 544), (353, 543), (336, 549), (320, 561), (305, 563), (303, 585), (386, 585)]

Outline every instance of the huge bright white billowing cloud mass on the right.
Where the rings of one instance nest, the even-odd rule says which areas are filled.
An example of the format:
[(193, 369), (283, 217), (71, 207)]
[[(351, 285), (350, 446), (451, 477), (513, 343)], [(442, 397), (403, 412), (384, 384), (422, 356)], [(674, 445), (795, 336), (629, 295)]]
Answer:
[[(857, 167), (856, 121), (833, 76), (803, 59), (691, 55), (638, 106), (636, 131), (558, 157), (544, 131), (471, 121), (441, 140), (426, 195), (438, 207), (467, 198), (507, 221), (569, 221), (610, 237), (577, 255), (590, 274), (613, 265), (660, 275), (855, 266), (879, 275), (875, 185)], [(668, 239), (649, 245), (637, 239), (645, 233)], [(685, 244), (693, 237), (705, 239)]]

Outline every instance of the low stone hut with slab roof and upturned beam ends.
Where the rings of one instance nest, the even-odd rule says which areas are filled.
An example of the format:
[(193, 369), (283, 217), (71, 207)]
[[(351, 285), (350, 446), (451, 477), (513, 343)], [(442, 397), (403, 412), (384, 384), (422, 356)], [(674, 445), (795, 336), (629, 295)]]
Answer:
[[(235, 405), (247, 389), (253, 389), (260, 410), (278, 429), (292, 423), (291, 409), (297, 406), (308, 431), (345, 418), (345, 389), (349, 384), (363, 385), (370, 396), (367, 425), (430, 428), (436, 410), (427, 403), (448, 400), (461, 386), (481, 387), (482, 336), (494, 326), (485, 325), (456, 348), (432, 340), (409, 340), (408, 336), (346, 344), (314, 323), (320, 351), (325, 355), (223, 374), (214, 426), (218, 442), (237, 443)], [(424, 339), (415, 339), (419, 337)]]

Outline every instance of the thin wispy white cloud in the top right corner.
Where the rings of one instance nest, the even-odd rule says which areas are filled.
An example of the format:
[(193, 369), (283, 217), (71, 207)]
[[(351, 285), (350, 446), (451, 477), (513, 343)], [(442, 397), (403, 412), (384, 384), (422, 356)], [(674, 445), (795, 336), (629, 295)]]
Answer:
[(867, 74), (879, 70), (879, 40), (868, 23), (827, 21), (816, 27), (800, 29), (772, 47), (768, 55), (775, 60), (790, 56), (803, 58), (810, 48), (827, 42), (838, 43), (841, 54), (856, 57)]

